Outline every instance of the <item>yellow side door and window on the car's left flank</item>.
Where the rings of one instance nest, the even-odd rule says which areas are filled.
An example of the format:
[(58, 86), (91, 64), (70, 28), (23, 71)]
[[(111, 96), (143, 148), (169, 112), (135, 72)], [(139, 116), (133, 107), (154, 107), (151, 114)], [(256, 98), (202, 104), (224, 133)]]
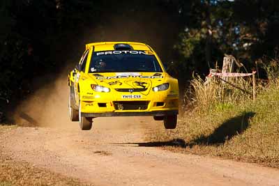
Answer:
[(80, 59), (80, 62), (76, 65), (76, 75), (75, 75), (75, 82), (74, 82), (74, 90), (75, 90), (75, 104), (79, 105), (80, 101), (80, 87), (79, 87), (79, 81), (80, 77), (84, 73), (86, 61), (88, 58), (89, 50), (87, 49), (84, 54), (82, 55), (82, 58)]

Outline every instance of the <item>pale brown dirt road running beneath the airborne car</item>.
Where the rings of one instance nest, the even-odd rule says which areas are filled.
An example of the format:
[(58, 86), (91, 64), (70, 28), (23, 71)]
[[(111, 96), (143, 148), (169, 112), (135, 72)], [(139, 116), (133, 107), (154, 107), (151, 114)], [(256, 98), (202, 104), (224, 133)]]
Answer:
[(98, 118), (93, 130), (17, 127), (0, 135), (14, 160), (80, 178), (93, 185), (279, 185), (279, 170), (255, 164), (182, 155), (144, 141), (163, 127), (151, 118)]

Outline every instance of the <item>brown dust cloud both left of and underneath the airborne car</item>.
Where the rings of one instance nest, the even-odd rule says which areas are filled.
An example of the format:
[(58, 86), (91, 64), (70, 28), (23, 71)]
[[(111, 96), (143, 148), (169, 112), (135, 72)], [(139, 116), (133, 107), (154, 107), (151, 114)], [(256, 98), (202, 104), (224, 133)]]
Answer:
[[(13, 114), (17, 125), (24, 127), (55, 127), (66, 130), (80, 130), (78, 122), (70, 121), (68, 113), (68, 87), (66, 72), (61, 73), (54, 82), (45, 85), (24, 100)], [(158, 121), (152, 117), (108, 117), (94, 118), (93, 128), (100, 130), (122, 130), (155, 126)]]

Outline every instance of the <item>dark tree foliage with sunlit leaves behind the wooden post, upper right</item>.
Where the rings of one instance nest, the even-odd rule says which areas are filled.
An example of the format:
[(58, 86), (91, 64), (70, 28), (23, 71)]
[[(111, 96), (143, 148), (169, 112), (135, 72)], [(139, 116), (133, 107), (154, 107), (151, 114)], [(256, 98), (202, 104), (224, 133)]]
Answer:
[(216, 61), (222, 65), (224, 54), (233, 54), (248, 70), (264, 55), (276, 57), (278, 10), (272, 0), (188, 2), (181, 6), (185, 21), (175, 45), (176, 65), (186, 63), (184, 71), (206, 75)]

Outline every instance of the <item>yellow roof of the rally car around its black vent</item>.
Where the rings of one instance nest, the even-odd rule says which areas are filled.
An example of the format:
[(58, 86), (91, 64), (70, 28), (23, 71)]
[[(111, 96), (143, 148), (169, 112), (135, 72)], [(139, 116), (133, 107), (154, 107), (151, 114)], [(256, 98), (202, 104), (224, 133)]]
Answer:
[(151, 48), (142, 42), (92, 42), (86, 45), (86, 49), (94, 47), (95, 52), (114, 50), (114, 45), (116, 44), (128, 44), (135, 50), (151, 51)]

